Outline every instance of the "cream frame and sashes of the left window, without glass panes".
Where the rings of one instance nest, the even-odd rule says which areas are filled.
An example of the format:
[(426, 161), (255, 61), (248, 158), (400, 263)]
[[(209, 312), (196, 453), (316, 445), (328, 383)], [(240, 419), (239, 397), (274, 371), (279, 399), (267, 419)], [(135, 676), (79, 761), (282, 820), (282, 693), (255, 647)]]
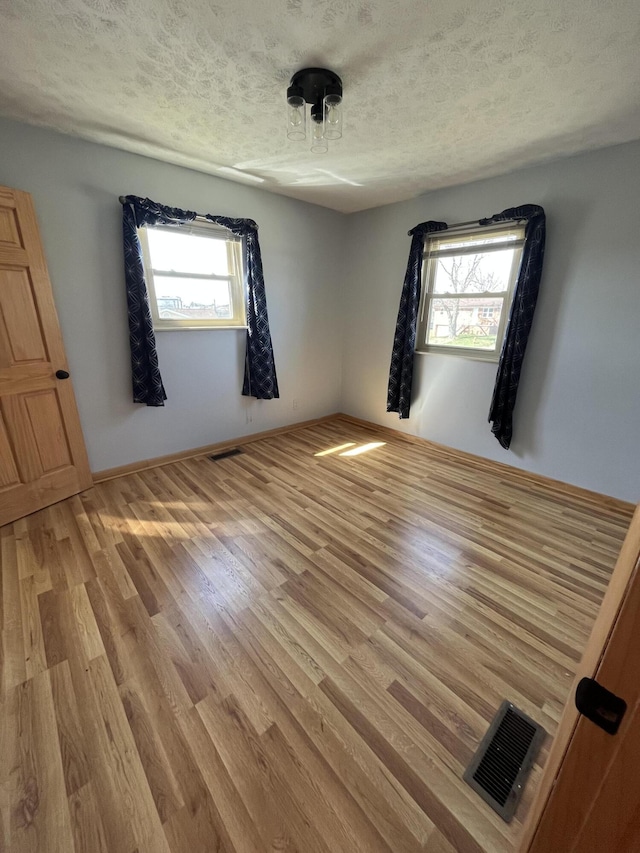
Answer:
[[(179, 232), (184, 234), (206, 234), (211, 239), (224, 240), (227, 250), (227, 267), (231, 270), (230, 275), (185, 273), (177, 270), (155, 270), (151, 260), (149, 249), (148, 230)], [(202, 329), (246, 329), (247, 328), (247, 306), (244, 293), (244, 269), (242, 263), (242, 238), (236, 236), (226, 228), (215, 225), (213, 222), (190, 222), (188, 225), (144, 225), (138, 228), (138, 238), (142, 247), (142, 259), (144, 264), (145, 283), (149, 295), (149, 306), (153, 329), (156, 332), (194, 331)], [(188, 318), (168, 319), (160, 317), (158, 310), (158, 299), (156, 294), (155, 275), (162, 278), (194, 278), (229, 282), (229, 294), (233, 306), (232, 317), (220, 318)]]

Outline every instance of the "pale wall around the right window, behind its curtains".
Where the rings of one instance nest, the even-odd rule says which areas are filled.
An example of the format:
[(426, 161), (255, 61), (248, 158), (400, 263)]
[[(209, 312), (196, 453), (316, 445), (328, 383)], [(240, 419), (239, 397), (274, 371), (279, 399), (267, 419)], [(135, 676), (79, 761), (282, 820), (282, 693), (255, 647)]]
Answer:
[[(489, 459), (640, 499), (640, 144), (441, 190), (349, 218), (343, 411)], [(407, 231), (518, 204), (547, 249), (510, 451), (487, 414), (496, 365), (418, 355), (409, 420), (385, 412)]]

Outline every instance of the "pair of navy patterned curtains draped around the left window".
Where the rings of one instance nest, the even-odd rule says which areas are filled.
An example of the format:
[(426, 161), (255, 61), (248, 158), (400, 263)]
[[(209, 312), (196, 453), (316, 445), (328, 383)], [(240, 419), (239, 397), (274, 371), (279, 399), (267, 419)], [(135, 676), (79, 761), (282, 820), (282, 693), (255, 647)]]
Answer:
[[(166, 207), (148, 198), (129, 195), (122, 199), (124, 273), (134, 403), (164, 406), (164, 401), (167, 399), (158, 366), (156, 338), (144, 279), (138, 228), (145, 225), (180, 226), (193, 222), (197, 215), (193, 210)], [(252, 219), (231, 219), (210, 215), (205, 218), (242, 237), (247, 307), (247, 350), (242, 393), (261, 400), (279, 397), (269, 331), (258, 226)]]

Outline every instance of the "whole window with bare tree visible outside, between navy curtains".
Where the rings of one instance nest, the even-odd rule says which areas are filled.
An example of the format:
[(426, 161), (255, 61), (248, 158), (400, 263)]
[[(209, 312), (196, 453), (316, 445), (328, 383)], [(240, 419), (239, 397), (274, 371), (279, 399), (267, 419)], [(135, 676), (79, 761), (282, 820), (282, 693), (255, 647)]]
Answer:
[(418, 352), (498, 360), (523, 244), (513, 223), (427, 236)]

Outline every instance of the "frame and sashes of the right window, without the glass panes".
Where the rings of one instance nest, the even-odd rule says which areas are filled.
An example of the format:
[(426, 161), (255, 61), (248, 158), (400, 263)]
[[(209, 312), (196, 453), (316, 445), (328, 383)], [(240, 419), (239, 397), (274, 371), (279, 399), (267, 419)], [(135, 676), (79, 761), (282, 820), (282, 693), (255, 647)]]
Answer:
[[(515, 240), (501, 241), (489, 245), (458, 247), (455, 249), (434, 249), (445, 238), (450, 238), (450, 242), (454, 242), (456, 238), (466, 238), (467, 240), (475, 238), (486, 239), (487, 237), (499, 236), (500, 234), (512, 234), (514, 231), (519, 232), (519, 236)], [(418, 324), (416, 334), (416, 353), (440, 353), (441, 355), (455, 355), (463, 358), (471, 358), (478, 361), (497, 362), (500, 359), (504, 334), (507, 326), (508, 315), (511, 310), (513, 296), (515, 293), (516, 282), (522, 263), (522, 251), (524, 248), (525, 238), (525, 223), (522, 221), (506, 222), (504, 225), (496, 224), (491, 226), (475, 225), (459, 230), (436, 231), (425, 236), (424, 252), (422, 255), (422, 292), (420, 295), (420, 310), (418, 312)], [(445, 293), (434, 293), (436, 280), (436, 272), (438, 261), (447, 257), (459, 257), (460, 255), (476, 255), (486, 254), (488, 252), (504, 251), (505, 248), (515, 249), (511, 259), (511, 270), (509, 273), (509, 281), (506, 290), (500, 291), (474, 291), (471, 293), (455, 293), (447, 291)], [(489, 297), (493, 299), (502, 299), (502, 310), (500, 312), (500, 321), (498, 323), (498, 331), (496, 334), (496, 346), (493, 350), (487, 350), (481, 347), (456, 347), (446, 344), (427, 343), (429, 332), (429, 319), (431, 316), (431, 306), (434, 299), (478, 299), (481, 297)]]

